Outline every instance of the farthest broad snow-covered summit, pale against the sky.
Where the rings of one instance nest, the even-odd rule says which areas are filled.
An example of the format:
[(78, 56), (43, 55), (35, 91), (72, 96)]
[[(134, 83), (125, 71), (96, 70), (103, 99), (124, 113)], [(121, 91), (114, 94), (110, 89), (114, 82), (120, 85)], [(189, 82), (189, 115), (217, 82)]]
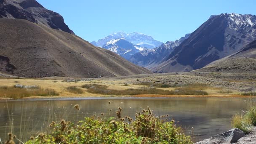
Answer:
[(113, 33), (103, 39), (96, 41), (92, 41), (91, 44), (103, 47), (103, 45), (107, 44), (111, 40), (116, 40), (123, 38), (134, 45), (139, 45), (140, 47), (144, 48), (155, 48), (162, 44), (162, 42), (155, 40), (153, 37), (144, 35), (142, 33), (133, 32), (133, 33), (125, 33), (125, 32), (117, 32)]

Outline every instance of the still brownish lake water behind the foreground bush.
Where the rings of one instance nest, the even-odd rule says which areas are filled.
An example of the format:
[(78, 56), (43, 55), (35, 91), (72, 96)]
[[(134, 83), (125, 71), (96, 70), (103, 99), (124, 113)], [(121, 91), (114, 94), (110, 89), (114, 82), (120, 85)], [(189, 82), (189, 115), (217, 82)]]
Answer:
[[(190, 134), (194, 128), (194, 141), (209, 138), (231, 129), (232, 115), (247, 109), (247, 98), (90, 98), (90, 99), (32, 99), (0, 101), (0, 138), (6, 139), (12, 131), (26, 140), (35, 133), (45, 131), (51, 121), (78, 121), (87, 116), (115, 116), (122, 107), (122, 115), (134, 118), (136, 111), (149, 106), (155, 115), (170, 115), (177, 125)], [(108, 101), (113, 101), (109, 104)], [(80, 111), (73, 107), (79, 104)], [(112, 109), (110, 112), (109, 109)]]

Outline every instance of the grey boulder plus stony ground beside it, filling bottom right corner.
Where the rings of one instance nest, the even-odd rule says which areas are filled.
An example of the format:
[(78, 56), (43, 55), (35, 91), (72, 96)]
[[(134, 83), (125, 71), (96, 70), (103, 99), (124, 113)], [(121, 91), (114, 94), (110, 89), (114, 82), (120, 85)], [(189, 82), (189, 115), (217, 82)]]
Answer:
[(195, 144), (256, 144), (256, 128), (253, 128), (248, 135), (245, 135), (240, 129), (234, 128)]

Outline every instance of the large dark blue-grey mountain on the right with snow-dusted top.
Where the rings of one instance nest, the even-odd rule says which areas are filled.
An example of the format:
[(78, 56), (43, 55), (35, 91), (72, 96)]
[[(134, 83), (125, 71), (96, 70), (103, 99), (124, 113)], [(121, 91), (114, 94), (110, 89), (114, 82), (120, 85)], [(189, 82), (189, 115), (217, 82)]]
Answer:
[(256, 39), (256, 16), (237, 13), (211, 16), (176, 47), (153, 72), (186, 72), (236, 53)]

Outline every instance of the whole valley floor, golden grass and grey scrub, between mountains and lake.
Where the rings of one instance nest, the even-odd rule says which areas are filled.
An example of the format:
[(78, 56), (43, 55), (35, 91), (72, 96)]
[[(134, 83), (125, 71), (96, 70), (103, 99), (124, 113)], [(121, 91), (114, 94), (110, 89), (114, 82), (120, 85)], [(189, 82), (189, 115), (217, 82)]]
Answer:
[[(243, 75), (241, 75), (243, 74)], [(180, 72), (155, 75), (135, 75), (116, 78), (72, 78), (72, 77), (45, 77), (45, 78), (19, 78), (9, 77), (0, 79), (1, 86), (13, 87), (13, 85), (37, 85), (40, 88), (51, 88), (58, 96), (51, 98), (76, 98), (76, 97), (250, 97), (247, 92), (256, 91), (256, 74), (250, 73), (221, 73), (221, 72)], [(107, 87), (108, 90), (124, 91), (124, 93), (95, 93), (83, 88), (94, 88), (97, 85)], [(73, 87), (81, 90), (81, 93), (72, 93), (67, 90)], [(96, 87), (97, 88), (97, 87)], [(101, 89), (101, 88), (98, 88)], [(181, 93), (144, 93), (128, 94), (128, 89), (144, 90), (159, 89), (164, 91), (180, 91)], [(126, 91), (126, 92), (125, 92)], [(204, 91), (207, 94), (200, 94)], [(195, 94), (194, 94), (195, 93)], [(2, 92), (2, 99), (10, 99)], [(44, 99), (49, 96), (28, 96), (22, 99)], [(16, 99), (16, 98), (14, 98)]]

